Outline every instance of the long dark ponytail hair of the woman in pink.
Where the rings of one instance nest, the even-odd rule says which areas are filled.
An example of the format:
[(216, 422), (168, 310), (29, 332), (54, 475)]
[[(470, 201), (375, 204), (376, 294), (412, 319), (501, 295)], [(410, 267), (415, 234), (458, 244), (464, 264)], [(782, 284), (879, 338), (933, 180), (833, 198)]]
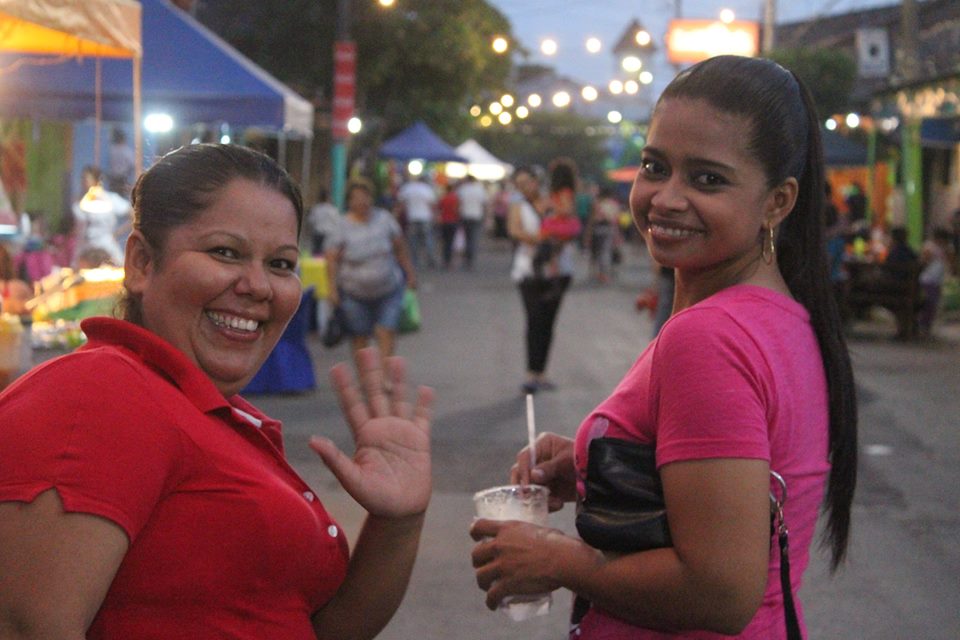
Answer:
[(827, 378), (830, 477), (823, 542), (831, 570), (843, 561), (850, 537), (850, 508), (857, 481), (857, 404), (843, 325), (830, 284), (824, 240), (824, 166), (820, 125), (810, 92), (792, 72), (770, 60), (717, 56), (680, 73), (664, 100), (704, 100), (748, 119), (747, 149), (763, 167), (768, 186), (789, 177), (797, 201), (777, 235), (777, 264), (793, 296), (810, 314)]

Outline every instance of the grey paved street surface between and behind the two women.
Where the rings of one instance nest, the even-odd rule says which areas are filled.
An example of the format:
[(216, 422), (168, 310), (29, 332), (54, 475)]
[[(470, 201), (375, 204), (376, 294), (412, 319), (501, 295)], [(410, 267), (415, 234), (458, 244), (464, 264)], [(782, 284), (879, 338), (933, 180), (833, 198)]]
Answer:
[[(632, 249), (632, 247), (631, 247)], [(474, 491), (502, 484), (523, 445), (523, 314), (507, 277), (509, 247), (486, 240), (472, 272), (421, 274), (423, 329), (399, 353), (412, 378), (436, 389), (435, 493), (407, 598), (386, 640), (565, 638), (569, 593), (551, 613), (514, 623), (483, 606), (470, 567), (467, 528)], [(649, 340), (649, 317), (633, 309), (651, 274), (628, 251), (615, 284), (586, 282), (568, 294), (550, 373), (559, 389), (536, 396), (538, 428), (572, 435)], [(884, 322), (854, 327), (851, 347), (861, 410), (861, 473), (853, 546), (833, 579), (816, 554), (800, 596), (811, 638), (956, 640), (960, 637), (960, 322), (922, 344), (890, 340)], [(341, 524), (355, 535), (361, 510), (306, 447), (323, 432), (350, 436), (325, 372), (348, 348), (312, 338), (319, 388), (297, 396), (251, 398), (285, 421), (287, 453)], [(572, 529), (572, 512), (552, 516)]]

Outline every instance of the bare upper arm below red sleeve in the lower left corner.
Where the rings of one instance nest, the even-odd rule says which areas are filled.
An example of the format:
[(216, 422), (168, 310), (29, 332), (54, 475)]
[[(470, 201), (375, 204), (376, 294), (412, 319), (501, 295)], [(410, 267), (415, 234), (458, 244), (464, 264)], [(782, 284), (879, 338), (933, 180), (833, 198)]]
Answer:
[(127, 548), (123, 529), (65, 513), (55, 490), (0, 503), (0, 639), (82, 640)]

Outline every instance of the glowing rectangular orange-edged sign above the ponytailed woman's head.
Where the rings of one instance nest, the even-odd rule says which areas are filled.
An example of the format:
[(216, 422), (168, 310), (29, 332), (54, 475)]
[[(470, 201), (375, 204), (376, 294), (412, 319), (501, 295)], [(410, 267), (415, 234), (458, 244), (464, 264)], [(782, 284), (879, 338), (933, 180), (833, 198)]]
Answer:
[(755, 56), (760, 50), (760, 25), (735, 20), (671, 20), (667, 58), (672, 64), (700, 62), (724, 54)]

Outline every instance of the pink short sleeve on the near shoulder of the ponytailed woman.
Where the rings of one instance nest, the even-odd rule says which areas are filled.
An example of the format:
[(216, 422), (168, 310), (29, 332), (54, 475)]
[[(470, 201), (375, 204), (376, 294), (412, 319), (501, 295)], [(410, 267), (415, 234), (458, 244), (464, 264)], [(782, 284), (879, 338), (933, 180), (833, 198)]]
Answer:
[(750, 335), (726, 312), (691, 309), (664, 325), (651, 398), (657, 464), (770, 459), (771, 376)]

